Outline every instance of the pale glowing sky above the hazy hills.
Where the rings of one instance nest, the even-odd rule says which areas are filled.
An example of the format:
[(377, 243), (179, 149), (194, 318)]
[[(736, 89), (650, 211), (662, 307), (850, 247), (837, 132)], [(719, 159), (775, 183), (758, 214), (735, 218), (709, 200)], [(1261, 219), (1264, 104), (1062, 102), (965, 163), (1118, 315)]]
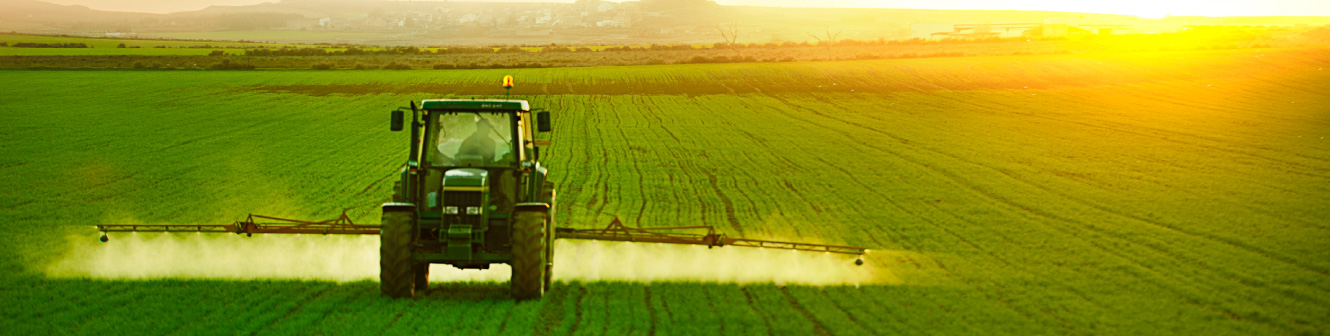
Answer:
[[(209, 5), (249, 5), (275, 0), (45, 0), (77, 4), (93, 9), (170, 13), (197, 11)], [(371, 0), (367, 0), (371, 1)], [(572, 3), (572, 0), (462, 0)], [(717, 0), (724, 5), (841, 7), (841, 8), (922, 8), (922, 9), (1023, 9), (1060, 11), (1141, 17), (1174, 16), (1330, 16), (1330, 0)]]

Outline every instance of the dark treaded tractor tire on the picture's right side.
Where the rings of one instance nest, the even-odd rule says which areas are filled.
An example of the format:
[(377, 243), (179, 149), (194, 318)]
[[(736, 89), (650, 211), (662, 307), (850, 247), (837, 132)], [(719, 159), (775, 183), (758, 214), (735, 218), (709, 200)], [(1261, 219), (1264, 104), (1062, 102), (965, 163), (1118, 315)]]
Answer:
[(517, 211), (512, 219), (512, 297), (545, 295), (545, 214)]

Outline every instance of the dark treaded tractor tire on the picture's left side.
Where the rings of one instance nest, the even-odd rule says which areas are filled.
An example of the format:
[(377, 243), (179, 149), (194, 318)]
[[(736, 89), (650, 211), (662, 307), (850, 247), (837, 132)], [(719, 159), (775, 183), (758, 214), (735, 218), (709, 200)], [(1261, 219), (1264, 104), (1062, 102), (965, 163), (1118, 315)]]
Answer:
[(411, 215), (407, 212), (383, 212), (379, 232), (379, 288), (383, 295), (394, 299), (411, 297)]

